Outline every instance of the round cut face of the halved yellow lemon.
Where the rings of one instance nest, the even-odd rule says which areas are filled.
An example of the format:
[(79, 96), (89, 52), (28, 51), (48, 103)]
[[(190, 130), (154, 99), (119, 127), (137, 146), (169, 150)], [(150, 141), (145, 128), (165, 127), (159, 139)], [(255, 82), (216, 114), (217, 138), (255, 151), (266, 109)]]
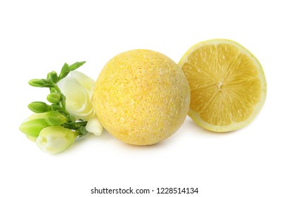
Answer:
[(255, 56), (228, 39), (195, 44), (179, 62), (191, 88), (188, 115), (213, 132), (248, 125), (266, 98), (266, 80)]

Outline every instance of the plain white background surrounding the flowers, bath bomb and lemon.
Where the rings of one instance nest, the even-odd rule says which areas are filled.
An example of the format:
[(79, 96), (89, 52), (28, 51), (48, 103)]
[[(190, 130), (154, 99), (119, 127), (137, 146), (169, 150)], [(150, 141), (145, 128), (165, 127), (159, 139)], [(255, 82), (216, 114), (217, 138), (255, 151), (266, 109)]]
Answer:
[[(0, 196), (120, 196), (101, 189), (198, 187), (176, 196), (289, 196), (288, 4), (285, 1), (0, 1)], [(176, 63), (193, 44), (233, 39), (262, 63), (268, 90), (254, 122), (216, 134), (187, 118), (155, 146), (107, 132), (48, 155), (18, 126), (47, 89), (27, 81), (86, 61), (98, 77), (117, 53), (152, 49)], [(167, 196), (164, 194), (125, 196)]]

